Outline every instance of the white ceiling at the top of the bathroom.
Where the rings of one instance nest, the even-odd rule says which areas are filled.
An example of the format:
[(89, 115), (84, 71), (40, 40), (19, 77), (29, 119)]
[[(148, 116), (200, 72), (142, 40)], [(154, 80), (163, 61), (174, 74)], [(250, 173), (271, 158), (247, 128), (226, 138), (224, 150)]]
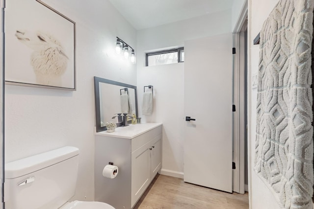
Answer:
[(109, 0), (136, 30), (231, 9), (233, 0)]

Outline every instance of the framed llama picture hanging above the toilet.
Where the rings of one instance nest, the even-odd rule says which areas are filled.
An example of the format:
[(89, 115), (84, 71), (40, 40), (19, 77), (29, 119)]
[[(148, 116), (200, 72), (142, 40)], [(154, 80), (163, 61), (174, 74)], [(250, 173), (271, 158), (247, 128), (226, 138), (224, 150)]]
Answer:
[(76, 90), (75, 22), (42, 0), (5, 0), (5, 84)]

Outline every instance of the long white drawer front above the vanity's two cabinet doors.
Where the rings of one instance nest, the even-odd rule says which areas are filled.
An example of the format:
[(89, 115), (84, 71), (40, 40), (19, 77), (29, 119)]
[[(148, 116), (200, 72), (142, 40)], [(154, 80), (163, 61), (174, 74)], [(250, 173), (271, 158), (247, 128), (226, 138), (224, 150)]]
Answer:
[(162, 126), (158, 126), (142, 135), (139, 135), (133, 139), (131, 139), (131, 152), (140, 148), (150, 140), (154, 139), (158, 135), (162, 134)]

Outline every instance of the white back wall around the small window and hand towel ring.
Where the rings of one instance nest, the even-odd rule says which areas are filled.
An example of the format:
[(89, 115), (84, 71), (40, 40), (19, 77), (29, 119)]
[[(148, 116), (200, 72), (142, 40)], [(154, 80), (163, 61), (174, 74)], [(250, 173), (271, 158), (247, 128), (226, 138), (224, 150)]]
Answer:
[[(183, 178), (184, 63), (145, 67), (145, 52), (184, 46), (184, 41), (231, 32), (226, 10), (137, 32), (137, 88), (141, 116), (143, 86), (154, 86), (155, 107), (143, 121), (163, 123), (162, 173)], [(232, 46), (230, 46), (232, 47)]]

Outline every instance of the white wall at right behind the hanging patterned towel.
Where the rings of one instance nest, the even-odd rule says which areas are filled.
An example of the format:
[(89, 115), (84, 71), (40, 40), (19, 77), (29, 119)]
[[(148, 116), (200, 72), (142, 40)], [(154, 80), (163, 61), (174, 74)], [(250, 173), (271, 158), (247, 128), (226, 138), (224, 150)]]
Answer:
[[(258, 72), (259, 68), (259, 53), (260, 45), (253, 45), (253, 40), (262, 29), (262, 24), (268, 17), (271, 10), (275, 7), (278, 0), (249, 0), (249, 27), (248, 27), (248, 55), (249, 55), (249, 75)], [(279, 208), (276, 200), (272, 196), (269, 189), (262, 183), (262, 180), (256, 175), (253, 170), (255, 158), (255, 139), (256, 139), (256, 104), (257, 104), (257, 89), (252, 89), (248, 85), (249, 99), (251, 104), (248, 104), (249, 110), (249, 161), (251, 161), (251, 189), (250, 189), (250, 208), (251, 209), (277, 209)], [(250, 149), (251, 148), (251, 149)], [(249, 162), (250, 163), (250, 162)]]

